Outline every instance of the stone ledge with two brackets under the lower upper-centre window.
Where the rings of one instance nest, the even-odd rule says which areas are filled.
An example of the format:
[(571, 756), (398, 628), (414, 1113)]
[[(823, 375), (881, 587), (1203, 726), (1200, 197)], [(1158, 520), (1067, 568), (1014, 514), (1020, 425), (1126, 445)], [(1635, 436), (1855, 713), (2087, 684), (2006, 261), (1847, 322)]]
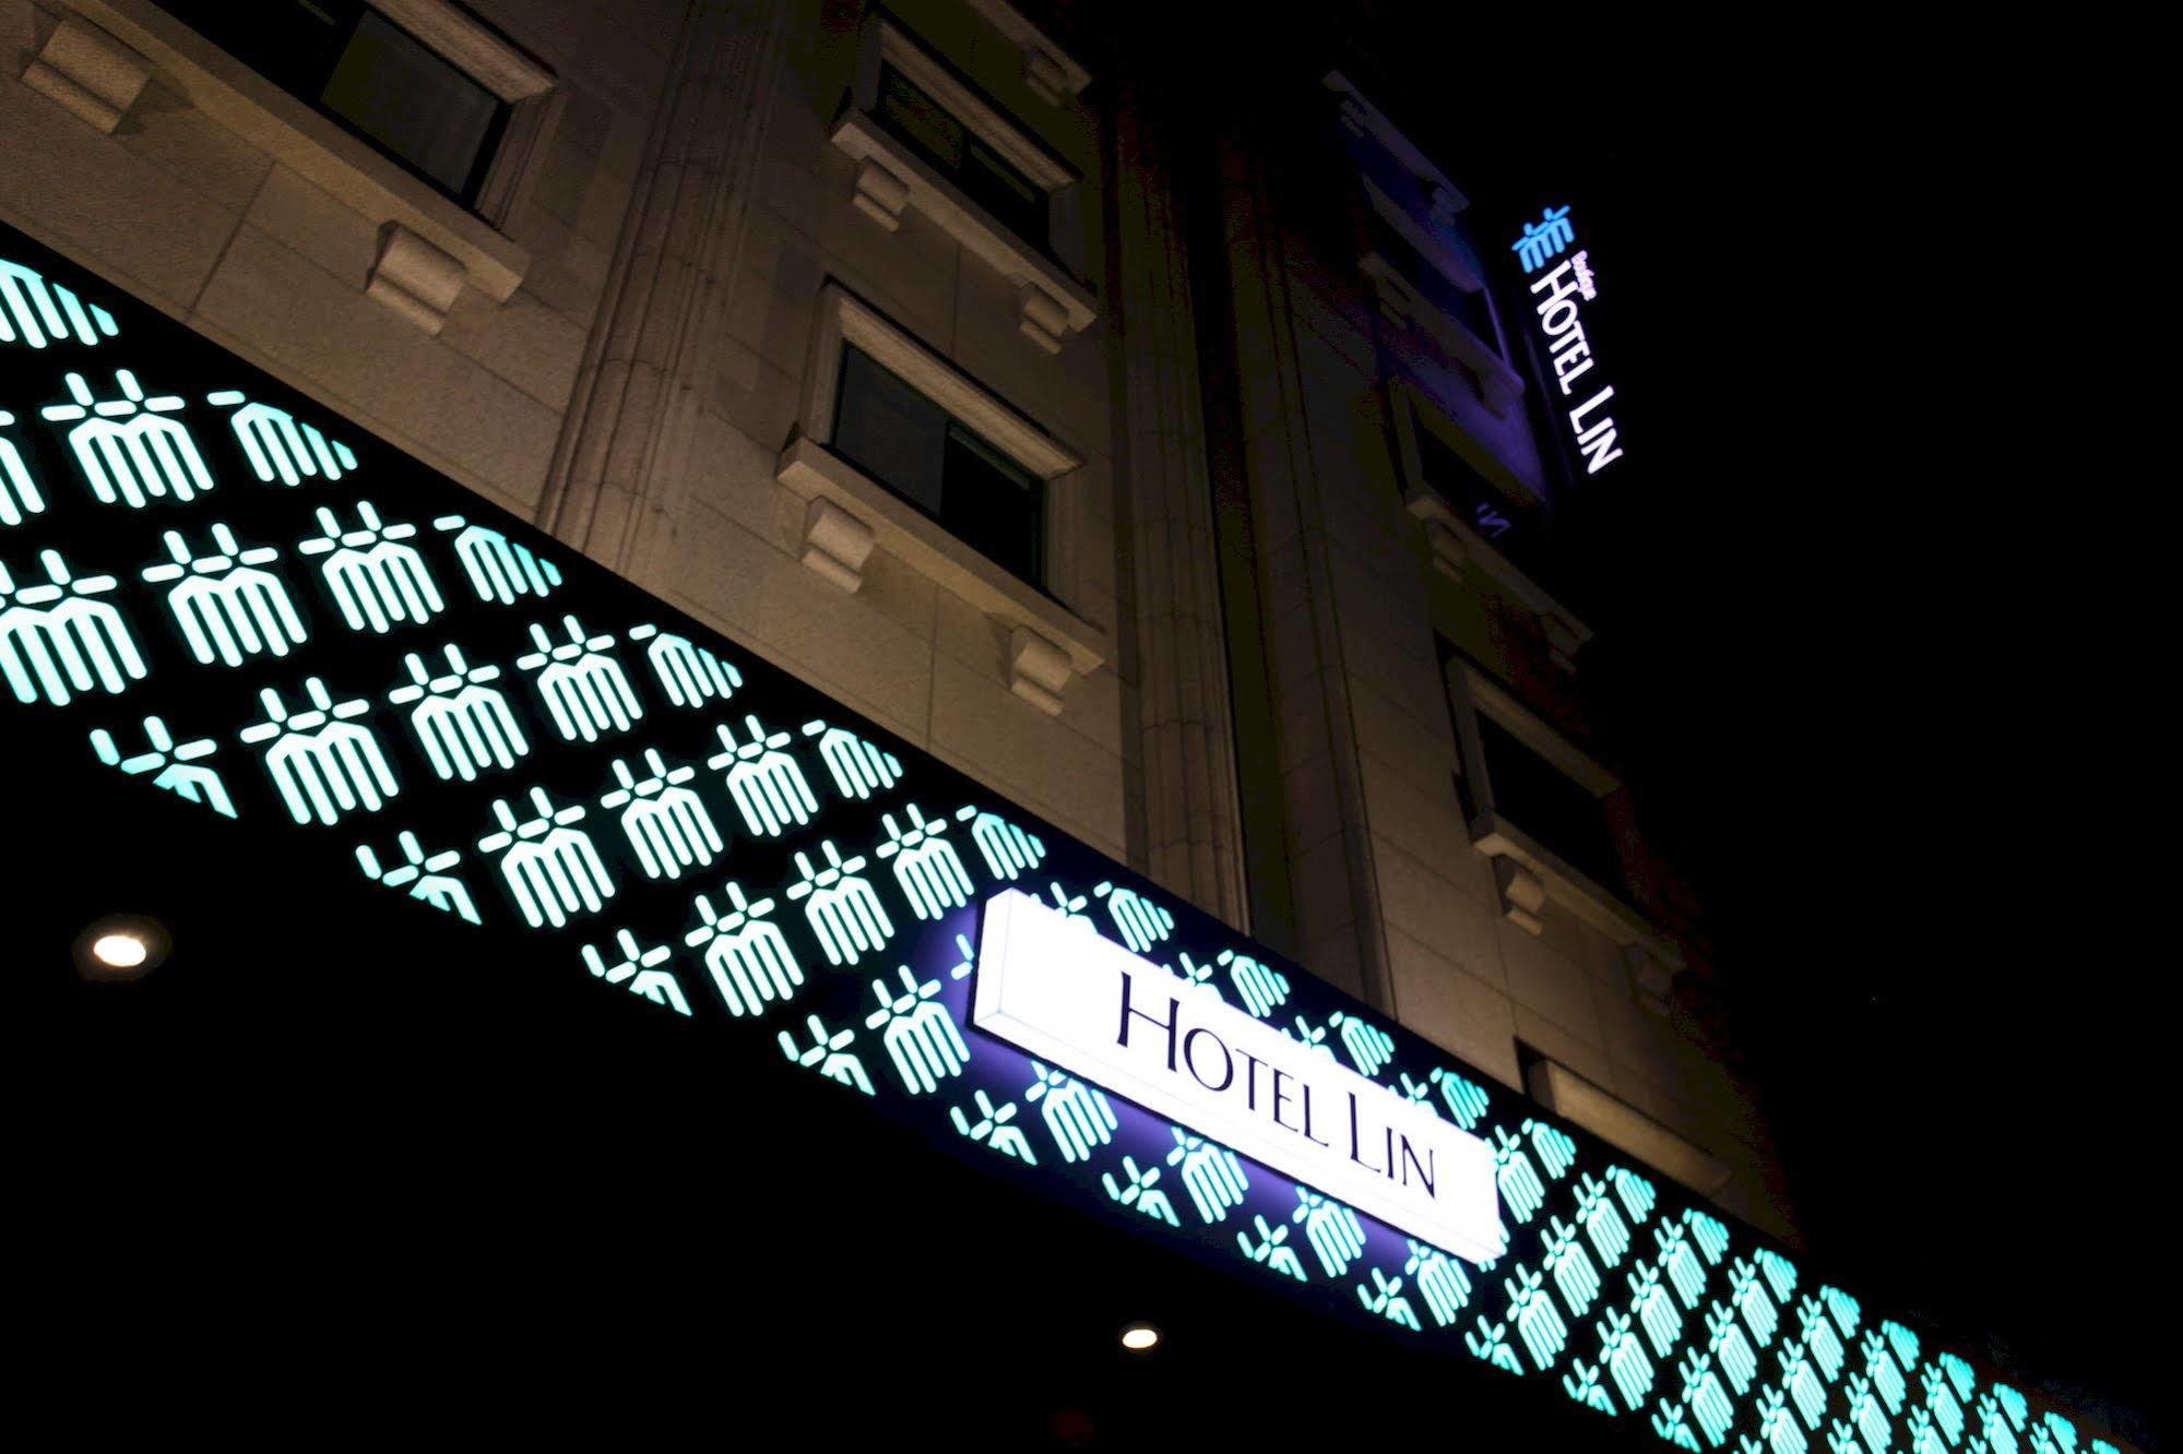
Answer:
[[(832, 555), (832, 541), (843, 537), (856, 541), (851, 550), (858, 544), (867, 555), (871, 548), (886, 550), (932, 583), (978, 607), (1004, 629), (1011, 629), (1011, 637), (1015, 640), (1011, 640), (1009, 655), (1011, 670), (1017, 675), (1030, 675), (1037, 681), (1039, 657), (1052, 659), (1035, 644), (1019, 640), (1015, 635), (1019, 631), (1030, 631), (1052, 648), (1059, 648), (1065, 668), (1076, 677), (1089, 677), (1113, 655), (1113, 644), (1105, 631), (1017, 581), (1000, 565), (993, 565), (950, 535), (945, 526), (816, 439), (795, 439), (775, 463), (775, 478), (784, 489), (816, 509), (821, 524), (808, 524), (808, 535), (819, 537), (816, 546), (825, 555)], [(825, 506), (847, 513), (849, 520), (834, 520)], [(810, 548), (808, 544), (806, 552)], [(851, 570), (860, 565), (862, 557), (854, 561)], [(1026, 653), (1030, 659), (1024, 659)], [(1046, 690), (1059, 699), (1061, 686), (1065, 686), (1065, 677), (1059, 683), (1046, 686)], [(1019, 690), (1017, 694), (1024, 696), (1026, 692)]]

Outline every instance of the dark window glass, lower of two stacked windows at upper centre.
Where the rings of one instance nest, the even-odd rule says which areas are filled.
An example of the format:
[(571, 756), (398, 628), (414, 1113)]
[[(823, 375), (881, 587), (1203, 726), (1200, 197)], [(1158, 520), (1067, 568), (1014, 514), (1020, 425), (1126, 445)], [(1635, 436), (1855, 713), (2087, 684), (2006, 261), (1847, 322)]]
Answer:
[(1043, 589), (1046, 480), (854, 345), (840, 351), (834, 452)]

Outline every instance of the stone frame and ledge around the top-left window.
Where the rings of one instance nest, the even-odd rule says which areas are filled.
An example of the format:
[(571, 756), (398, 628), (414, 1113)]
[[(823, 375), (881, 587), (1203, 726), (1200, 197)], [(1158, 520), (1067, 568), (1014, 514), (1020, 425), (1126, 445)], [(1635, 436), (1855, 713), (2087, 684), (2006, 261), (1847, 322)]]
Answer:
[[(439, 271), (448, 271), (448, 264), (458, 266), (461, 282), (496, 303), (504, 303), (522, 286), (524, 273), (530, 269), (526, 249), (151, 0), (72, 0), (72, 7), (85, 22), (142, 55), (157, 74), (212, 120), (334, 194), (371, 223), (393, 225), (430, 245), (448, 260), (439, 264)], [(487, 179), (489, 192), (498, 186), (502, 196), (511, 199), (517, 186), (517, 179), (509, 175), (511, 168), (524, 170), (530, 155), (539, 151), (535, 140), (541, 118), (530, 116), (530, 127), (517, 127), (522, 103), (539, 103), (530, 107), (539, 111), (544, 98), (552, 94), (554, 79), (498, 44), (496, 37), (463, 22), (458, 11), (439, 0), (397, 0), (382, 9), (424, 35), (450, 61), (469, 70), (480, 85), (517, 105), (517, 116), (509, 122), (509, 138), (502, 142), (502, 155)], [(428, 24), (434, 20), (437, 26)], [(469, 55), (463, 46), (476, 48), (478, 55)], [(526, 135), (517, 135), (520, 131)], [(419, 293), (406, 282), (404, 290)]]

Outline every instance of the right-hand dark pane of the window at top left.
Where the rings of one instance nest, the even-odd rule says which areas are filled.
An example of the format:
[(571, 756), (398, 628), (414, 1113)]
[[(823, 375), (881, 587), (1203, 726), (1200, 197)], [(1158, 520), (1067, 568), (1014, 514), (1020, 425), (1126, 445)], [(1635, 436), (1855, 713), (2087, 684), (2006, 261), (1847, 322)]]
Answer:
[(402, 26), (365, 13), (319, 96), (325, 109), (448, 192), (469, 190), (500, 96)]

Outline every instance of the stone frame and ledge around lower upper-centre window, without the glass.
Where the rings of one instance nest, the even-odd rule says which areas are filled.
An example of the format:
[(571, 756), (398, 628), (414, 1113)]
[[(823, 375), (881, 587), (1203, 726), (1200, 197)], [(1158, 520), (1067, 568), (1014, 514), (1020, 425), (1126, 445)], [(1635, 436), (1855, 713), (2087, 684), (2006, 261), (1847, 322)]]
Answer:
[[(1111, 548), (1092, 515), (1087, 491), (1072, 478), (1085, 456), (1013, 404), (969, 378), (884, 312), (827, 279), (819, 290), (816, 336), (803, 376), (801, 421), (775, 461), (775, 478), (792, 496), (830, 500), (873, 531), (875, 544), (926, 579), (954, 592), (1004, 627), (1028, 627), (1089, 677), (1113, 657), (1109, 629), (1067, 603), (1085, 589), (1074, 563)], [(845, 347), (858, 347), (932, 400), (941, 413), (989, 448), (1046, 480), (1046, 581), (1033, 585), (987, 559), (923, 509), (851, 465), (834, 450), (834, 415)]]

